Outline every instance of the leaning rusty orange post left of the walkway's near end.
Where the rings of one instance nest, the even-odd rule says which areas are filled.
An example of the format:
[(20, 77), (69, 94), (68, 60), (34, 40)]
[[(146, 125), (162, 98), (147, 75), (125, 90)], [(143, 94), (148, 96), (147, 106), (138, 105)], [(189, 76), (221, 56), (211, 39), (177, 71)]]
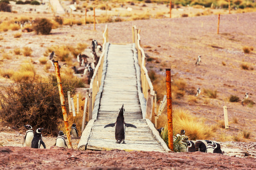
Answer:
[(68, 139), (68, 148), (73, 148), (72, 142), (71, 142), (69, 125), (68, 125), (68, 114), (67, 114), (66, 106), (65, 106), (65, 98), (64, 98), (63, 88), (62, 88), (61, 79), (60, 79), (60, 69), (59, 69), (58, 61), (54, 62), (54, 67), (55, 67), (55, 74), (56, 74), (56, 78), (57, 78), (58, 88), (59, 88), (60, 103), (61, 103), (61, 109), (62, 109), (62, 113), (63, 113), (65, 130), (66, 130), (67, 139)]

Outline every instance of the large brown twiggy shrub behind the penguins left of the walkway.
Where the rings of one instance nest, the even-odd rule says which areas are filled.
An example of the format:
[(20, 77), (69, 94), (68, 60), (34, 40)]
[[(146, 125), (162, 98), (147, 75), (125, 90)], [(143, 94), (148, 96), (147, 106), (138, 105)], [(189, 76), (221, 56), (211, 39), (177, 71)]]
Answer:
[[(44, 133), (56, 135), (59, 131), (59, 123), (63, 120), (63, 114), (55, 79), (55, 76), (51, 76), (49, 84), (35, 84), (34, 80), (26, 80), (17, 87), (5, 88), (5, 94), (1, 91), (1, 120), (16, 128), (30, 124), (34, 129), (44, 128)], [(75, 94), (74, 82), (62, 83), (64, 94), (67, 94), (67, 91), (72, 95)], [(67, 95), (65, 100), (67, 101)]]

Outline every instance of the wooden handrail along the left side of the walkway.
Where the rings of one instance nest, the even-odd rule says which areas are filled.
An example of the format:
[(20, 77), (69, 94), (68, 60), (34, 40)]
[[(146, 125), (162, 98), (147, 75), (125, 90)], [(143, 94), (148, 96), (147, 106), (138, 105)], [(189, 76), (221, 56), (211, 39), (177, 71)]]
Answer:
[(102, 66), (104, 63), (104, 56), (105, 56), (105, 46), (106, 42), (108, 42), (108, 25), (105, 27), (105, 31), (103, 32), (103, 45), (102, 45), (102, 53), (100, 56), (100, 59), (98, 61), (98, 64), (94, 70), (94, 74), (92, 76), (92, 79), (90, 81), (90, 90), (89, 90), (89, 115), (88, 115), (88, 121), (92, 119), (92, 111), (94, 107), (94, 101), (96, 100), (97, 92), (101, 86), (101, 77), (102, 77)]

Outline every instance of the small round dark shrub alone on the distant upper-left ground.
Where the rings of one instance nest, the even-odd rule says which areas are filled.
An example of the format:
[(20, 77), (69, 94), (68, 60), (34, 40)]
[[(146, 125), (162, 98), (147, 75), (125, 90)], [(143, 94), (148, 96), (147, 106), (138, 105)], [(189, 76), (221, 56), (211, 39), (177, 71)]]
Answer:
[(35, 20), (34, 29), (36, 34), (49, 35), (52, 30), (52, 23), (46, 18), (38, 18)]

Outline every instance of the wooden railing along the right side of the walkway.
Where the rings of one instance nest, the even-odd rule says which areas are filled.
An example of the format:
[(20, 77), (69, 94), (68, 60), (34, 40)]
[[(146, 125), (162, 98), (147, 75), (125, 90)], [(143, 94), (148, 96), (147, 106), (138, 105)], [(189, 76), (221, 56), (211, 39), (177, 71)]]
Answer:
[[(151, 80), (146, 69), (146, 56), (144, 50), (141, 48), (140, 30), (133, 26), (133, 43), (137, 50), (138, 63), (141, 68), (141, 88), (144, 98), (146, 99), (146, 116), (152, 122), (152, 113), (156, 113), (156, 92), (152, 86)], [(154, 102), (155, 101), (155, 102)], [(143, 108), (142, 108), (143, 109)], [(154, 117), (155, 114), (153, 114)]]

